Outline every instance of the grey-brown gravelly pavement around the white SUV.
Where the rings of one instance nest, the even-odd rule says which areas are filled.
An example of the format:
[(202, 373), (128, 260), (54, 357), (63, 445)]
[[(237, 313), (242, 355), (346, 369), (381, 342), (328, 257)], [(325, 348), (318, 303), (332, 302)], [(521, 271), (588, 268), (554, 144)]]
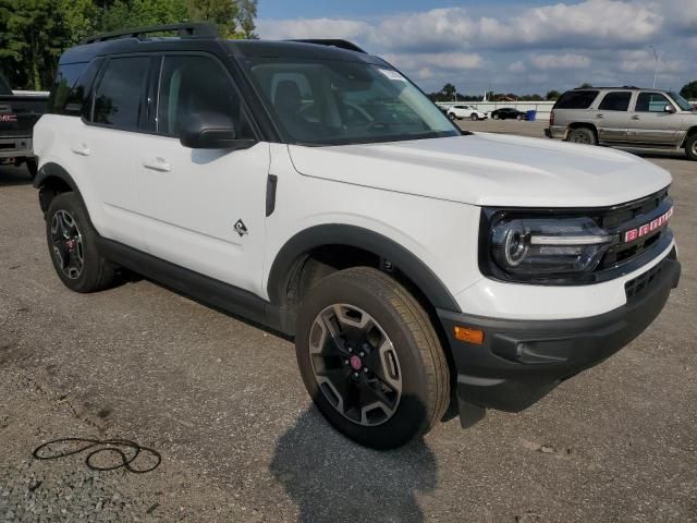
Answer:
[[(697, 163), (649, 159), (675, 179), (684, 270), (655, 325), (523, 413), (393, 452), (323, 422), (286, 340), (145, 280), (68, 291), (35, 191), (1, 168), (0, 521), (697, 521)], [(132, 439), (162, 463), (32, 458), (70, 436)]]

